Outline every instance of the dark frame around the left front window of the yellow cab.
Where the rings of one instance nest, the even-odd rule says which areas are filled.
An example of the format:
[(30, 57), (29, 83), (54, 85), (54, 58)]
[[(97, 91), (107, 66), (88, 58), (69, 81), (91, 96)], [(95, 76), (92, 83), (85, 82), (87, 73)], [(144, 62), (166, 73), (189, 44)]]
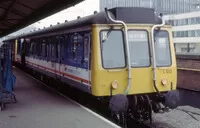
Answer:
[(115, 69), (125, 69), (126, 67), (127, 67), (127, 59), (126, 59), (126, 52), (125, 52), (125, 39), (124, 39), (124, 32), (123, 32), (123, 30), (122, 29), (113, 29), (112, 31), (121, 31), (122, 32), (122, 41), (123, 41), (123, 50), (124, 50), (124, 66), (123, 67), (113, 67), (113, 68), (106, 68), (105, 66), (104, 66), (104, 60), (103, 60), (103, 52), (102, 52), (102, 42), (101, 42), (101, 40), (102, 40), (102, 37), (101, 37), (101, 33), (103, 32), (103, 31), (108, 31), (109, 30), (109, 28), (108, 29), (101, 29), (100, 31), (99, 31), (99, 43), (100, 43), (100, 52), (101, 52), (101, 65), (102, 65), (102, 67), (104, 68), (104, 69), (106, 69), (106, 70), (115, 70)]

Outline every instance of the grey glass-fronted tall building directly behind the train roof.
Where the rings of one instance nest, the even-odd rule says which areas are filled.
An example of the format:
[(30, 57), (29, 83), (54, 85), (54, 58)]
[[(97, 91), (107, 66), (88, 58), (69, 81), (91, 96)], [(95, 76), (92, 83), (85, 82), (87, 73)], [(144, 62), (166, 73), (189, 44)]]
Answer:
[(105, 7), (149, 7), (163, 14), (200, 10), (200, 0), (100, 0), (100, 11)]

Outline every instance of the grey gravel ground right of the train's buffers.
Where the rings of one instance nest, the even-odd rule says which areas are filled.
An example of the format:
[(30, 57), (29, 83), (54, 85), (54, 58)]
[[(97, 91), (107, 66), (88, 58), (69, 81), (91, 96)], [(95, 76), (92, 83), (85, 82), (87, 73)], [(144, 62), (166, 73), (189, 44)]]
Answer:
[(200, 128), (200, 109), (180, 106), (164, 114), (153, 115), (156, 128)]

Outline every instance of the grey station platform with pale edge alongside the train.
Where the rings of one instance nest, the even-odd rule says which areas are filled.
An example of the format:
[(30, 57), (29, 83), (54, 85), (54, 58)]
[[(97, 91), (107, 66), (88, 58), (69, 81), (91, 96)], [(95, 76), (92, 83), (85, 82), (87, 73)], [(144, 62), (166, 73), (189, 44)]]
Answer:
[(0, 128), (117, 128), (51, 91), (26, 73), (13, 68), (16, 75), (16, 104), (0, 112)]

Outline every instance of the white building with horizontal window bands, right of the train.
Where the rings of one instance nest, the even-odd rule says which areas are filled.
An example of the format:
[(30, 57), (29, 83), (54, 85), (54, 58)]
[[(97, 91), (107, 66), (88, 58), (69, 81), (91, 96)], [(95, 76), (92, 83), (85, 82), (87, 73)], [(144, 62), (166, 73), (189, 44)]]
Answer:
[(173, 25), (177, 53), (200, 53), (200, 11), (165, 16)]

